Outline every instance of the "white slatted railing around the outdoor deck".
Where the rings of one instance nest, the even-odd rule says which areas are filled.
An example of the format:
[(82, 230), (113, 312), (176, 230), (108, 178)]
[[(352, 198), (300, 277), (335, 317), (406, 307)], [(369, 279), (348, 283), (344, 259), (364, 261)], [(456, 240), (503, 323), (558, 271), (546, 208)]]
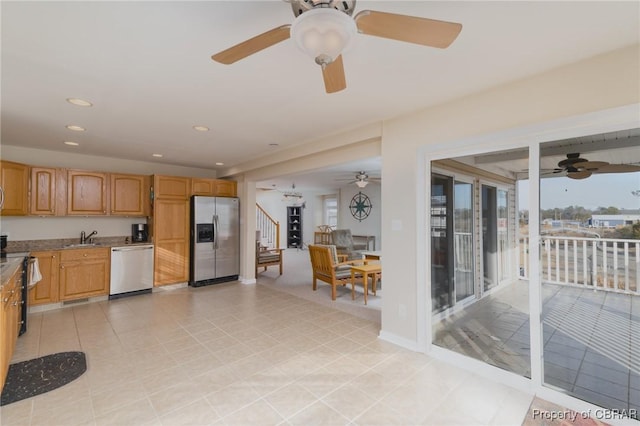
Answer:
[[(529, 238), (520, 237), (520, 276), (528, 278)], [(640, 240), (542, 236), (542, 281), (640, 294)]]

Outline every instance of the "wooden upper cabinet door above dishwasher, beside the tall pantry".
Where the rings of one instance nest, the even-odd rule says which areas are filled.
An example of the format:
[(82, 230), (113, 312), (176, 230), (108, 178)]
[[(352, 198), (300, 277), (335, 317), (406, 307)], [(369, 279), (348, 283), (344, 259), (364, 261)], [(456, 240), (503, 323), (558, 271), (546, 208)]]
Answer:
[(112, 215), (147, 215), (149, 184), (146, 176), (112, 173), (110, 181)]

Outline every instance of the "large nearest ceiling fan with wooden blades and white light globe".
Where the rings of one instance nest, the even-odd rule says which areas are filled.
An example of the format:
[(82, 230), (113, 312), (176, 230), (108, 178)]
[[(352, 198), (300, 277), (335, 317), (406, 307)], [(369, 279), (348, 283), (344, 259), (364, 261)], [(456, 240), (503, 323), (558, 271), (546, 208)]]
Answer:
[(347, 87), (342, 52), (356, 32), (423, 46), (448, 47), (462, 25), (416, 16), (363, 10), (352, 17), (356, 0), (284, 0), (291, 3), (295, 20), (236, 44), (211, 56), (232, 64), (281, 41), (293, 38), (296, 45), (322, 67), (327, 93)]

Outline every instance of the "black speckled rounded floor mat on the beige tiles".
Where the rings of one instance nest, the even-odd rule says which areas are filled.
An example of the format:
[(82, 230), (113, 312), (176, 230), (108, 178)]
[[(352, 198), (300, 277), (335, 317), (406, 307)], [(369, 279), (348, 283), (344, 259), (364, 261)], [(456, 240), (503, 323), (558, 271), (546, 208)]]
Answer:
[(9, 366), (0, 405), (57, 389), (87, 371), (84, 352), (60, 352)]

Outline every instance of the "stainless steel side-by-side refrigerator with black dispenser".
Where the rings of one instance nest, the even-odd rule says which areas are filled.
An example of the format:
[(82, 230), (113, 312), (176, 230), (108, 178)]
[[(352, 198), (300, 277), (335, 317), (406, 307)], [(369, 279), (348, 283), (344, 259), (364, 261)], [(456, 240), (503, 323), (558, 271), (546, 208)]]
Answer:
[(199, 287), (238, 279), (239, 204), (238, 198), (191, 197), (189, 285)]

